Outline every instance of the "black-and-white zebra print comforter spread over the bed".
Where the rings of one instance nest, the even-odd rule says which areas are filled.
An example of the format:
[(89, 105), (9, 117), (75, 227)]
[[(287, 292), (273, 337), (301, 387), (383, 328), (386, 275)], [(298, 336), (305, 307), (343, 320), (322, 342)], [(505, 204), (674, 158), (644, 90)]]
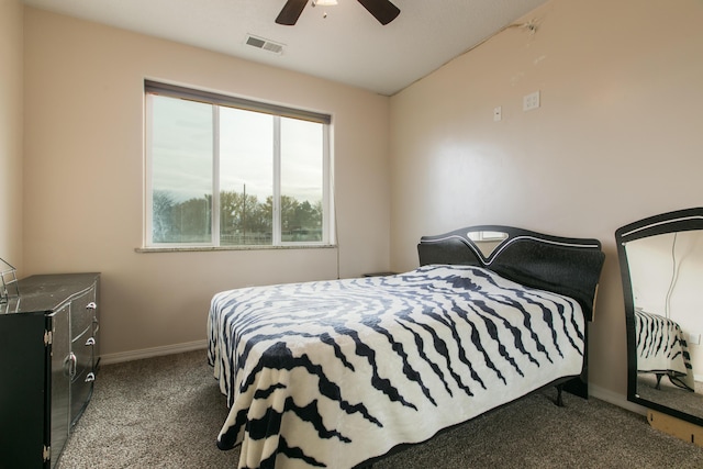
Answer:
[(209, 361), (239, 468), (350, 468), (581, 372), (577, 301), (470, 266), (217, 293)]

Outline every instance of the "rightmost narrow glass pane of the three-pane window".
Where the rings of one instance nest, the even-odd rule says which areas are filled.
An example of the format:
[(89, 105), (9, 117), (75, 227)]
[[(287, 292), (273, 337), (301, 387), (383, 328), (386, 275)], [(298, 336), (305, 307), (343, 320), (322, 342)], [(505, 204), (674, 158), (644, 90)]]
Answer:
[(323, 124), (281, 118), (281, 241), (322, 241)]

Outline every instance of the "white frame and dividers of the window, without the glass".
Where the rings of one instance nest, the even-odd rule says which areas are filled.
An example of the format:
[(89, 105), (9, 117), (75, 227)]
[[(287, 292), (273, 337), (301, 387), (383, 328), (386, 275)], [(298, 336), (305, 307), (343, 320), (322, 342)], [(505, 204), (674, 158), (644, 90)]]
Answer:
[[(152, 126), (153, 114), (150, 105), (150, 96), (160, 94), (170, 98), (180, 98), (191, 101), (213, 104), (213, 185), (212, 185), (212, 236), (210, 243), (155, 243), (153, 241), (153, 156), (152, 156)], [(324, 247), (332, 246), (335, 239), (334, 224), (334, 200), (333, 185), (333, 166), (331, 155), (331, 127), (332, 116), (330, 114), (319, 113), (270, 104), (266, 102), (252, 101), (248, 99), (230, 97), (210, 91), (185, 88), (176, 85), (168, 85), (150, 80), (144, 81), (144, 107), (145, 107), (145, 193), (144, 193), (144, 236), (143, 250), (197, 250), (197, 249), (253, 249), (253, 248), (281, 248), (281, 247)], [(247, 111), (265, 112), (274, 116), (274, 220), (272, 243), (270, 245), (225, 245), (220, 244), (220, 135), (219, 120), (220, 108), (230, 107)], [(280, 196), (281, 196), (281, 144), (280, 144), (280, 118), (292, 118), (305, 121), (312, 121), (323, 124), (323, 199), (322, 199), (322, 239), (319, 242), (283, 242), (281, 239), (281, 213), (280, 213)]]

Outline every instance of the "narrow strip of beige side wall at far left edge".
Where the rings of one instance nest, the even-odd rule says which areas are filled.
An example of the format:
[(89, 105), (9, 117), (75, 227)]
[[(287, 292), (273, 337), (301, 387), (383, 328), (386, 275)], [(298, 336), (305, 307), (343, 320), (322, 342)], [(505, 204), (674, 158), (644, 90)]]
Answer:
[(0, 258), (22, 258), (22, 18), (19, 0), (0, 0)]

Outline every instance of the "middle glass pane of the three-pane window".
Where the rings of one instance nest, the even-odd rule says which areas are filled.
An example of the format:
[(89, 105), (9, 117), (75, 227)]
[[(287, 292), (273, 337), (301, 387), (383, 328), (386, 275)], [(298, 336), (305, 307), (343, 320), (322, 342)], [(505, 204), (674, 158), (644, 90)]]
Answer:
[(221, 108), (220, 244), (272, 244), (274, 116)]

